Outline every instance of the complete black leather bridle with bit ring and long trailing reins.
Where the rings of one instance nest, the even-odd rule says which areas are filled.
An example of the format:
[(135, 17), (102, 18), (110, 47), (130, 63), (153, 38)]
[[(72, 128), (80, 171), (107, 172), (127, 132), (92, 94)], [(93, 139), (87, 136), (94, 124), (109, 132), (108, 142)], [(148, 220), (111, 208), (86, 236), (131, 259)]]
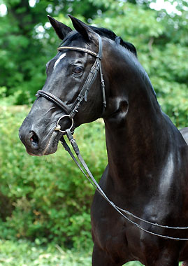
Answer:
[[(36, 97), (45, 97), (45, 99), (50, 100), (50, 102), (53, 102), (54, 104), (56, 104), (57, 106), (59, 106), (60, 109), (62, 109), (66, 114), (61, 116), (58, 120), (57, 120), (57, 126), (55, 127), (55, 130), (62, 132), (63, 134), (66, 134), (66, 136), (68, 137), (68, 140), (71, 143), (71, 146), (73, 147), (73, 151), (75, 152), (75, 154), (77, 155), (78, 159), (80, 160), (80, 163), (82, 165), (82, 167), (84, 167), (85, 171), (87, 172), (87, 174), (85, 173), (85, 171), (82, 169), (82, 167), (80, 166), (80, 163), (78, 162), (78, 160), (76, 160), (75, 156), (73, 155), (71, 149), (69, 148), (68, 144), (66, 144), (66, 141), (64, 139), (64, 136), (62, 136), (62, 139), (60, 139), (62, 145), (64, 146), (65, 150), (68, 151), (69, 155), (71, 155), (71, 158), (73, 159), (73, 161), (75, 162), (75, 164), (79, 167), (80, 171), (82, 172), (82, 174), (84, 174), (87, 179), (89, 180), (90, 183), (92, 183), (92, 186), (94, 186), (94, 188), (99, 192), (99, 194), (117, 211), (119, 212), (119, 214), (121, 214), (127, 221), (129, 221), (130, 223), (132, 223), (133, 225), (136, 225), (137, 228), (139, 228), (140, 230), (143, 230), (144, 232), (149, 233), (150, 235), (154, 235), (157, 237), (162, 237), (165, 239), (173, 239), (173, 240), (182, 240), (182, 241), (187, 241), (188, 238), (179, 238), (179, 237), (169, 237), (166, 235), (159, 235), (155, 232), (152, 232), (150, 230), (146, 230), (145, 228), (143, 228), (142, 226), (140, 226), (138, 223), (136, 223), (135, 221), (132, 221), (128, 216), (131, 216), (132, 218), (141, 221), (143, 223), (147, 223), (151, 226), (155, 226), (158, 228), (165, 228), (165, 229), (171, 229), (171, 230), (187, 230), (188, 227), (171, 227), (171, 226), (166, 226), (166, 225), (159, 225), (157, 223), (152, 223), (150, 221), (146, 221), (134, 214), (132, 214), (129, 211), (126, 211), (124, 209), (121, 209), (120, 207), (117, 207), (113, 202), (111, 202), (107, 195), (103, 192), (103, 190), (101, 189), (101, 187), (99, 186), (99, 184), (96, 182), (96, 180), (94, 179), (94, 176), (92, 175), (92, 173), (89, 171), (89, 168), (87, 167), (85, 161), (83, 160), (82, 156), (80, 155), (80, 151), (78, 148), (78, 145), (75, 142), (75, 139), (73, 138), (73, 133), (71, 132), (71, 129), (73, 127), (73, 117), (75, 116), (76, 113), (78, 113), (78, 109), (80, 107), (80, 105), (82, 104), (82, 102), (85, 100), (85, 102), (87, 102), (87, 94), (89, 92), (89, 89), (92, 87), (92, 84), (94, 83), (94, 80), (96, 80), (96, 76), (98, 71), (100, 71), (100, 77), (101, 77), (101, 90), (102, 90), (102, 96), (103, 96), (103, 112), (106, 109), (106, 94), (105, 94), (105, 83), (103, 80), (103, 72), (102, 72), (102, 67), (101, 67), (101, 59), (102, 59), (102, 41), (101, 41), (101, 37), (99, 36), (99, 34), (96, 34), (98, 36), (98, 40), (99, 40), (99, 52), (93, 52), (92, 50), (88, 50), (86, 48), (79, 48), (79, 47), (72, 47), (72, 46), (61, 46), (59, 48), (57, 48), (57, 50), (78, 50), (80, 52), (87, 52), (89, 55), (92, 55), (94, 57), (96, 57), (96, 60), (92, 66), (92, 68), (89, 71), (89, 74), (85, 80), (84, 85), (82, 86), (82, 89), (80, 90), (80, 93), (78, 94), (78, 97), (75, 99), (75, 102), (73, 103), (73, 105), (71, 106), (71, 108), (65, 104), (61, 99), (59, 99), (58, 97), (56, 97), (54, 94), (50, 93), (50, 92), (45, 92), (43, 90), (38, 90), (38, 92), (36, 93)], [(71, 119), (71, 127), (68, 128), (67, 130), (61, 130), (61, 126), (59, 125), (60, 120), (62, 120), (63, 118), (70, 118)]]

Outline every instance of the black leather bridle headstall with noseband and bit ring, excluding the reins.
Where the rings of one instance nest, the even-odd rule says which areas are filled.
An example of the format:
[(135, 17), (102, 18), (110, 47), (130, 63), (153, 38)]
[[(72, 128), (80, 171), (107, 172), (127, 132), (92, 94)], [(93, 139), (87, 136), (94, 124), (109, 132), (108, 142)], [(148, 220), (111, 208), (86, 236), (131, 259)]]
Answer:
[[(96, 57), (96, 60), (92, 66), (92, 68), (89, 71), (89, 74), (85, 80), (84, 85), (82, 86), (82, 89), (80, 90), (80, 93), (78, 94), (78, 97), (75, 99), (75, 102), (71, 106), (71, 108), (65, 104), (61, 99), (56, 97), (54, 94), (50, 92), (45, 92), (44, 90), (38, 90), (36, 93), (36, 97), (45, 97), (45, 99), (48, 99), (50, 102), (53, 102), (57, 106), (59, 106), (60, 109), (62, 109), (66, 113), (66, 117), (69, 117), (73, 123), (73, 117), (75, 116), (76, 113), (78, 113), (78, 109), (81, 105), (81, 103), (85, 100), (87, 102), (87, 94), (89, 92), (89, 89), (92, 87), (92, 84), (94, 83), (94, 80), (96, 80), (96, 76), (98, 71), (100, 72), (100, 77), (101, 77), (101, 91), (102, 91), (102, 96), (103, 96), (103, 112), (106, 108), (106, 94), (105, 94), (105, 83), (103, 80), (103, 72), (102, 72), (102, 67), (101, 67), (101, 59), (102, 59), (102, 40), (101, 36), (99, 34), (96, 34), (98, 36), (99, 40), (99, 51), (98, 53), (93, 52), (92, 50), (86, 49), (86, 48), (80, 48), (80, 47), (73, 47), (73, 46), (61, 46), (57, 48), (58, 51), (61, 50), (78, 50), (80, 52), (87, 52), (89, 55), (92, 55)], [(64, 118), (65, 116), (62, 116), (59, 118), (57, 122), (57, 127), (55, 130), (59, 130), (60, 132), (65, 133), (65, 131), (60, 130), (59, 126), (59, 121)]]

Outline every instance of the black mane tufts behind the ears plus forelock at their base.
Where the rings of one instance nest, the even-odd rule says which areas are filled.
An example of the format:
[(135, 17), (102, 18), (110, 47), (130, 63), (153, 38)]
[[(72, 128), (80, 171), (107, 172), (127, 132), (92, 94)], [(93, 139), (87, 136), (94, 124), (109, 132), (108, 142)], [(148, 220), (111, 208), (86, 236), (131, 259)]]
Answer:
[[(94, 27), (94, 26), (89, 26), (89, 27), (93, 31), (95, 31), (97, 34), (99, 34), (100, 36), (110, 38), (110, 40), (115, 41), (115, 43), (117, 43), (117, 45), (118, 44), (122, 45), (124, 48), (133, 52), (133, 54), (137, 56), (136, 48), (134, 47), (134, 45), (132, 43), (124, 41), (121, 37), (117, 36), (113, 31), (110, 31), (109, 29), (105, 29), (105, 28)], [(78, 36), (80, 36), (78, 31), (71, 31), (71, 33), (68, 34), (64, 38), (62, 43), (66, 42), (66, 41), (74, 41), (76, 38), (78, 38)], [(61, 45), (62, 45), (62, 43), (61, 43)]]

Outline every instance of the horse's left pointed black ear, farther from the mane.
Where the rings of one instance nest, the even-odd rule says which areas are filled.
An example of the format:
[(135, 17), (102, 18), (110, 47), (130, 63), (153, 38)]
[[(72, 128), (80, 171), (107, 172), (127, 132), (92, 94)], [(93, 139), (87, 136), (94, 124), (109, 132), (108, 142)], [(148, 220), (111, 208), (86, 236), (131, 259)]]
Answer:
[(48, 15), (48, 20), (50, 20), (50, 24), (55, 29), (57, 36), (62, 40), (66, 37), (66, 34), (72, 31), (71, 28), (64, 25), (62, 22), (55, 20), (55, 18), (50, 17), (50, 15)]

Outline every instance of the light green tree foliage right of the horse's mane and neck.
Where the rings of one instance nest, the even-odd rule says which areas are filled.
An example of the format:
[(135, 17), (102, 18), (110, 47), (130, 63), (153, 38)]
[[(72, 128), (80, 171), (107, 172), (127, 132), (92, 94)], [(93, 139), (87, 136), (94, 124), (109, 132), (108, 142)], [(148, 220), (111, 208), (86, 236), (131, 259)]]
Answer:
[(113, 2), (109, 5), (106, 13), (94, 22), (112, 29), (136, 46), (138, 59), (150, 76), (162, 109), (177, 127), (187, 126), (186, 11), (182, 10), (181, 16), (171, 18), (164, 12), (131, 3), (121, 2), (118, 5)]

